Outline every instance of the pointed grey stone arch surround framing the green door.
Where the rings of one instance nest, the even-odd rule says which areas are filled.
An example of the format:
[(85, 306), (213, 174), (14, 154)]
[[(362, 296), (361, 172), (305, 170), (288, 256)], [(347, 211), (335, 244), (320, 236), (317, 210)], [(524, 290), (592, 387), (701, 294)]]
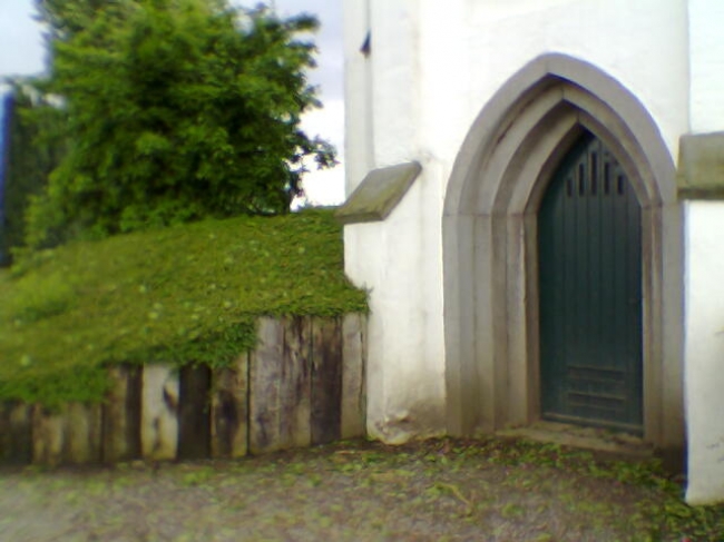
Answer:
[(644, 437), (684, 442), (683, 248), (675, 165), (656, 124), (617, 80), (545, 55), (474, 120), (442, 219), (448, 432), (472, 435), (539, 417), (537, 211), (584, 130), (617, 157), (642, 205)]

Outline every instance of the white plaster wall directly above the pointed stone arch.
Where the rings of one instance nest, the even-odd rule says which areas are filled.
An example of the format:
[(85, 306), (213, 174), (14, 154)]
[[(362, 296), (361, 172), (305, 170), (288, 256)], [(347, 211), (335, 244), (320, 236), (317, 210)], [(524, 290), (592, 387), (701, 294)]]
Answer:
[(421, 13), (424, 150), (453, 160), (500, 86), (534, 58), (560, 52), (638, 96), (677, 156), (689, 122), (686, 0), (423, 0)]

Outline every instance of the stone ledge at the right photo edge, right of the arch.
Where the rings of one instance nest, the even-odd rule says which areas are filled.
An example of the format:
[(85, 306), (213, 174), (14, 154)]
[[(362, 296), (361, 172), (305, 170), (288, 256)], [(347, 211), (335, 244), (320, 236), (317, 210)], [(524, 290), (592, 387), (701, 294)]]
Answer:
[(724, 199), (724, 131), (682, 136), (678, 197)]

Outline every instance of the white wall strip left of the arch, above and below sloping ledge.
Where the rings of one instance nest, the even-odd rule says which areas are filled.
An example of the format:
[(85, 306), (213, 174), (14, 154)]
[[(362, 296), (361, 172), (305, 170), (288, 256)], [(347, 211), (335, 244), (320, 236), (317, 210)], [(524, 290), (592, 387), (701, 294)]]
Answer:
[[(360, 19), (354, 13), (361, 3), (345, 7), (348, 26), (358, 37)], [(418, 140), (418, 7), (413, 0), (369, 0), (370, 55), (359, 51), (360, 40), (358, 50), (350, 43), (353, 58), (348, 58), (348, 195), (369, 169), (411, 160), (423, 166), (384, 221), (345, 226), (348, 274), (371, 290), (368, 430), (385, 442), (446, 430), (439, 223), (447, 174), (425, 159)], [(366, 162), (361, 167), (363, 148)], [(350, 156), (358, 156), (356, 162), (350, 164)]]

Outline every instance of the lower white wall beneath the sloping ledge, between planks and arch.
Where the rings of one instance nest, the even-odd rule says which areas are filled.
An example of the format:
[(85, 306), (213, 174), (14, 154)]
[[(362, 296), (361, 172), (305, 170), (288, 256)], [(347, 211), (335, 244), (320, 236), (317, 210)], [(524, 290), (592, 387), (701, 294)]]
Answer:
[(368, 432), (389, 443), (444, 433), (440, 243), (430, 242), (441, 213), (423, 173), (384, 221), (345, 227), (350, 278), (368, 288)]

